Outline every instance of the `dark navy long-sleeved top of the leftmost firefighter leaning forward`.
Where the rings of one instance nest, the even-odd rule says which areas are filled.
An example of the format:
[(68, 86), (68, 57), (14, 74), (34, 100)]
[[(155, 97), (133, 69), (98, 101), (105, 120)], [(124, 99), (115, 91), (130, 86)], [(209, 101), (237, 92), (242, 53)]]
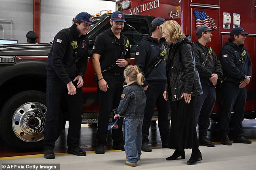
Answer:
[[(71, 82), (71, 79), (78, 75), (83, 76), (88, 62), (88, 37), (86, 35), (78, 37), (79, 32), (75, 24), (69, 29), (59, 31), (54, 37), (46, 66), (48, 78), (55, 79), (59, 77), (65, 84)], [(79, 60), (77, 63), (71, 46), (71, 41), (74, 40), (78, 44)]]

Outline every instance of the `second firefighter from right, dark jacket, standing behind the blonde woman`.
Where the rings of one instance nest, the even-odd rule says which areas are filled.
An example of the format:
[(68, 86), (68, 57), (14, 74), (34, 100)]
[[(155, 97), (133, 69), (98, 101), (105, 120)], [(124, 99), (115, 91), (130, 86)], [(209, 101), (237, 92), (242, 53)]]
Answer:
[(200, 26), (197, 31), (197, 41), (193, 47), (196, 68), (199, 72), (203, 94), (196, 97), (195, 121), (199, 119), (199, 145), (214, 146), (215, 143), (207, 138), (207, 129), (210, 126), (210, 115), (216, 101), (218, 78), (222, 77), (222, 68), (216, 53), (206, 44), (211, 42), (215, 29), (209, 29), (207, 25)]

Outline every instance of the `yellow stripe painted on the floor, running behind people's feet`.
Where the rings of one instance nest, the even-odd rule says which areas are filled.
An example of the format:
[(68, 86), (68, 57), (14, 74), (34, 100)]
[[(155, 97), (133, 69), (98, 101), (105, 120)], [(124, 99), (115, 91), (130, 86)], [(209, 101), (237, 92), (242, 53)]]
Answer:
[[(256, 139), (250, 139), (251, 141), (256, 141)], [(233, 142), (233, 141), (232, 141)], [(221, 144), (221, 142), (214, 142), (216, 144)], [(161, 146), (151, 146), (152, 149), (162, 148)], [(121, 152), (120, 150), (105, 150), (105, 152)], [(92, 154), (95, 151), (86, 151), (86, 154)], [(57, 153), (55, 156), (63, 156), (63, 155), (71, 155), (67, 153)], [(36, 154), (36, 155), (24, 155), (24, 156), (9, 156), (2, 157), (0, 160), (12, 160), (12, 159), (21, 159), (21, 158), (35, 158), (35, 157), (44, 157), (44, 154)]]

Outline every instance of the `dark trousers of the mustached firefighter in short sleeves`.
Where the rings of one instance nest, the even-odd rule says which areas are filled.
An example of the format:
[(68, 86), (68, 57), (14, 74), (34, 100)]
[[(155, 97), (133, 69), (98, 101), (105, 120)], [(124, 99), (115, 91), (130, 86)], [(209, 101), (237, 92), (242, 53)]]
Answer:
[[(103, 92), (99, 89), (98, 84), (101, 107), (98, 120), (97, 146), (107, 144), (107, 127), (109, 124), (110, 114), (113, 109), (118, 108), (121, 100), (121, 94), (124, 89), (124, 76), (122, 73), (106, 72), (103, 75), (103, 78), (107, 82), (109, 88), (107, 88), (106, 92)], [(112, 118), (112, 121), (115, 120)], [(124, 144), (122, 128), (112, 129), (111, 137), (113, 139), (113, 145), (118, 145), (120, 143)]]

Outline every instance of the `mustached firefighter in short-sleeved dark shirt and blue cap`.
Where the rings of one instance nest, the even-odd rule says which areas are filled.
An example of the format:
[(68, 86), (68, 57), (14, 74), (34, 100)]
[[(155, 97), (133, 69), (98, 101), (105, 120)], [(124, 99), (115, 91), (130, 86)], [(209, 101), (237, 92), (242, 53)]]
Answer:
[[(123, 91), (123, 72), (130, 63), (130, 44), (121, 32), (126, 20), (120, 11), (113, 12), (109, 20), (111, 28), (98, 35), (92, 47), (92, 63), (96, 72), (100, 96), (100, 113), (97, 129), (96, 154), (105, 154), (107, 127), (110, 113), (118, 108)], [(114, 119), (113, 119), (114, 121)], [(124, 151), (122, 128), (112, 129), (114, 150)]]

